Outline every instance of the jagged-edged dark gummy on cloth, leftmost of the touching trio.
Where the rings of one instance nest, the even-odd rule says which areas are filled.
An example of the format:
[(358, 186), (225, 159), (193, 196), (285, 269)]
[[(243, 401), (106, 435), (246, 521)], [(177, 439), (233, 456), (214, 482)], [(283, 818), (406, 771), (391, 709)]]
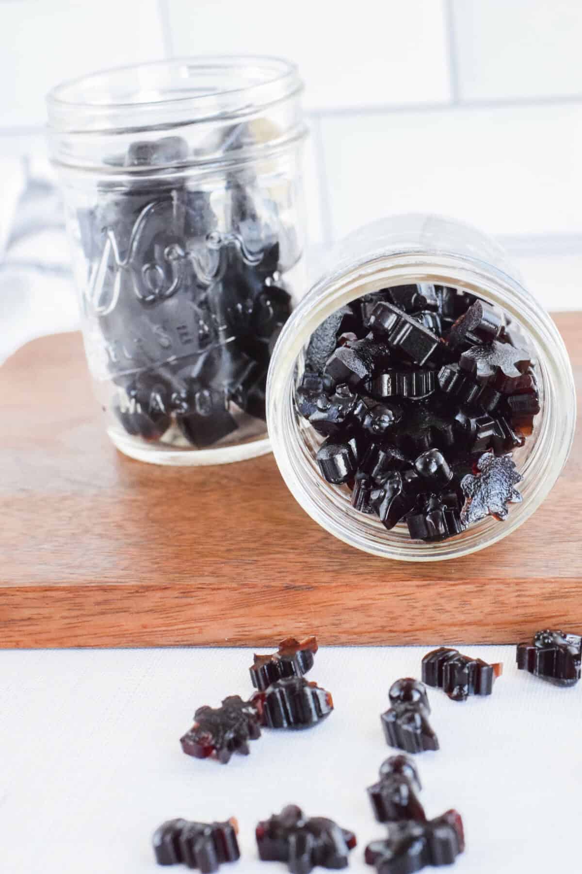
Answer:
[(257, 708), (238, 695), (224, 698), (221, 707), (199, 707), (195, 723), (180, 739), (181, 748), (195, 759), (216, 759), (226, 765), (233, 753), (249, 755), (249, 740), (261, 737)]

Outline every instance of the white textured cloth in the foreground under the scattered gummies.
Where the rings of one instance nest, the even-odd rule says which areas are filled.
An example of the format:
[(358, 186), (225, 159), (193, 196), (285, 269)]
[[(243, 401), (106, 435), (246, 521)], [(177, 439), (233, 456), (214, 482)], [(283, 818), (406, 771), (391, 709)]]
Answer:
[[(198, 706), (250, 694), (249, 650), (0, 652), (0, 870), (154, 874), (161, 822), (236, 815), (243, 856), (222, 871), (284, 874), (259, 862), (254, 828), (293, 802), (353, 829), (350, 870), (372, 874), (364, 848), (384, 827), (366, 787), (394, 753), (380, 712), (427, 649), (320, 649), (309, 677), (332, 691), (332, 715), (305, 732), (266, 730), (226, 766), (188, 758), (179, 738)], [(579, 871), (582, 686), (518, 673), (515, 647), (461, 650), (504, 671), (492, 697), (465, 704), (429, 690), (441, 749), (416, 756), (421, 801), (428, 816), (462, 814), (467, 850), (454, 870)]]

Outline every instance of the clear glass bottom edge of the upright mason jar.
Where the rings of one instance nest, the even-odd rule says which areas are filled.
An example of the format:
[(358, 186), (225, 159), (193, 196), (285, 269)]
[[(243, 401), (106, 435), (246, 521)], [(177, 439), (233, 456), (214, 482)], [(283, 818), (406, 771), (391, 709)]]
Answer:
[(174, 468), (194, 468), (213, 464), (230, 464), (234, 461), (246, 461), (259, 455), (270, 453), (270, 440), (264, 437), (260, 440), (250, 440), (237, 446), (218, 447), (216, 449), (175, 449), (160, 446), (148, 446), (133, 437), (124, 436), (115, 428), (108, 428), (107, 434), (113, 446), (129, 458), (136, 461), (147, 461), (148, 464), (163, 464)]

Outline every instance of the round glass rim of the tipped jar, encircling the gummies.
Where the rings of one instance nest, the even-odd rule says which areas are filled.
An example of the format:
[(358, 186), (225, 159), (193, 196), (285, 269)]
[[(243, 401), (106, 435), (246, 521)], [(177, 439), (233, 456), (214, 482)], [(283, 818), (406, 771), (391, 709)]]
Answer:
[[(354, 510), (346, 487), (332, 486), (321, 477), (315, 461), (316, 435), (305, 420), (300, 420), (294, 406), (297, 369), (305, 344), (318, 324), (361, 295), (417, 281), (462, 288), (503, 309), (524, 330), (539, 364), (542, 412), (536, 417), (534, 432), (524, 449), (517, 450), (524, 453), (522, 461), (517, 461), (517, 468), (524, 475), (518, 487), (523, 487), (523, 503), (510, 505), (505, 522), (486, 517), (441, 543), (410, 540), (402, 526), (387, 531), (380, 520)], [(299, 304), (279, 337), (271, 359), (267, 397), (273, 452), (298, 503), (318, 524), (347, 544), (406, 561), (457, 558), (515, 531), (537, 509), (558, 477), (572, 446), (575, 423), (575, 394), (565, 346), (558, 329), (539, 304), (515, 280), (496, 268), (442, 253), (391, 253), (339, 271), (318, 283)]]

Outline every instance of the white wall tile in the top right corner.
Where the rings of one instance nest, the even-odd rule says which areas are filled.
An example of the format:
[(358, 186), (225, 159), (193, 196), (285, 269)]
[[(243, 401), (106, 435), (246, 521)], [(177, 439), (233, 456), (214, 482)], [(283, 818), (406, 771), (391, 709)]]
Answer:
[(466, 101), (582, 94), (580, 0), (452, 0)]

